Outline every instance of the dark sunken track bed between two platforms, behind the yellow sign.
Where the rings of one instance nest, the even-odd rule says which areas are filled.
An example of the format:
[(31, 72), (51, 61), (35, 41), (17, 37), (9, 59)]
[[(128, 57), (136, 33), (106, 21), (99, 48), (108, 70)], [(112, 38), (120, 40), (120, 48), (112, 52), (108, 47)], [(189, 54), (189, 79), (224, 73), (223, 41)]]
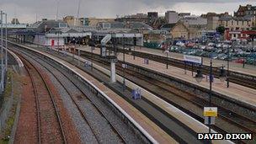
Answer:
[[(83, 58), (91, 60), (90, 55), (83, 56)], [(100, 60), (99, 56), (93, 56), (93, 61), (95, 61), (99, 65), (109, 69), (109, 62)], [(120, 75), (122, 75), (123, 67), (121, 67), (121, 65), (119, 64), (119, 65), (117, 65), (116, 68), (119, 70), (118, 73), (120, 73)], [(136, 78), (140, 79), (141, 81), (145, 81), (149, 84), (146, 84), (146, 83), (141, 84), (139, 81), (135, 82), (133, 77), (136, 77)], [(183, 89), (175, 87), (171, 83), (166, 83), (163, 81), (159, 81), (153, 77), (141, 75), (138, 72), (132, 71), (131, 69), (125, 69), (125, 78), (140, 85), (142, 88), (147, 89), (151, 93), (156, 94), (159, 98), (167, 100), (168, 103), (177, 106), (179, 109), (183, 109), (189, 115), (195, 117), (195, 119), (200, 120), (201, 122), (204, 121), (202, 112), (203, 112), (204, 106), (207, 106), (207, 104), (208, 104), (207, 99), (202, 99), (202, 98), (198, 97), (197, 95), (195, 95), (194, 93), (186, 92)], [(149, 85), (153, 85), (155, 87), (148, 88)], [(159, 89), (161, 89), (161, 90), (159, 90)], [(167, 94), (162, 94), (162, 93), (172, 93), (172, 94), (167, 95)], [(193, 104), (194, 106), (192, 106), (192, 108), (200, 108), (200, 113), (196, 113), (195, 111), (188, 109), (190, 106), (187, 109), (185, 107), (180, 106), (180, 104), (179, 104), (180, 101), (178, 101), (178, 100), (174, 101), (173, 96), (176, 96), (176, 98), (179, 98), (179, 99), (183, 99), (182, 103), (184, 103), (184, 104), (188, 104), (188, 103)], [(219, 118), (217, 119), (216, 126), (214, 127), (217, 131), (226, 133), (226, 132), (237, 132), (237, 130), (239, 131), (241, 129), (242, 131), (239, 131), (239, 132), (251, 132), (251, 133), (253, 133), (253, 136), (255, 136), (255, 134), (256, 134), (256, 121), (255, 120), (249, 119), (243, 115), (239, 115), (239, 114), (231, 111), (230, 109), (222, 107), (218, 104), (213, 104), (213, 106), (217, 106), (218, 111), (219, 111)], [(223, 128), (223, 127), (225, 127), (225, 125), (222, 125), (222, 124), (227, 124), (227, 123), (231, 124), (231, 125), (235, 125), (236, 129), (231, 130), (230, 128), (228, 128), (228, 125), (226, 125), (226, 128)], [(228, 129), (229, 129), (229, 131), (227, 131)], [(243, 142), (246, 143), (246, 141), (243, 141)]]

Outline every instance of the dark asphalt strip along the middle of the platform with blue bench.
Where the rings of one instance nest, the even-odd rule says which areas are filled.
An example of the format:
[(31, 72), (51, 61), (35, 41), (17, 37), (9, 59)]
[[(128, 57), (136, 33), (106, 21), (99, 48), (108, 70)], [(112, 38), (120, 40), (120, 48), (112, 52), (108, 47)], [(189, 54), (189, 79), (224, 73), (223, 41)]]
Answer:
[[(72, 60), (72, 57), (70, 57), (69, 60), (66, 60), (65, 57), (58, 55), (57, 52), (55, 54), (53, 54), (54, 51), (45, 51), (45, 52), (47, 52), (47, 53), (49, 53), (53, 56), (57, 56), (57, 57), (65, 60), (65, 61), (68, 61), (72, 65), (74, 65), (74, 63), (77, 64), (77, 62)], [(92, 72), (91, 69), (89, 69), (89, 71)], [(93, 71), (93, 73), (90, 73), (90, 72), (89, 72), (89, 74), (91, 76), (93, 76), (93, 74), (96, 71)], [(99, 75), (98, 74), (99, 73), (96, 72), (96, 77), (95, 77), (95, 75), (93, 77), (95, 77), (96, 79), (99, 80)], [(102, 82), (102, 81), (100, 81), (100, 82)], [(104, 82), (104, 83), (108, 83), (108, 82), (109, 82), (109, 80), (107, 80), (107, 82)], [(114, 90), (113, 88), (111, 88), (111, 89)], [(116, 92), (116, 90), (115, 90), (115, 92)], [(120, 94), (120, 92), (117, 92), (117, 93)], [(136, 109), (139, 109), (144, 115), (147, 115), (147, 117), (150, 120), (152, 120), (153, 122), (155, 122), (158, 126), (160, 126), (163, 129), (163, 131), (166, 131), (170, 136), (174, 136), (176, 141), (180, 141), (181, 143), (185, 143), (185, 141), (194, 141), (194, 142), (197, 141), (196, 143), (207, 143), (207, 142), (209, 142), (209, 141), (199, 141), (199, 140), (197, 140), (195, 131), (193, 131), (188, 126), (179, 122), (179, 120), (175, 120), (175, 118), (173, 118), (171, 115), (166, 114), (162, 109), (158, 109), (157, 105), (152, 104), (151, 102), (147, 101), (147, 99), (141, 99), (140, 101), (143, 103), (143, 105), (145, 105), (145, 104), (149, 105), (149, 107), (150, 107), (149, 109), (151, 109), (151, 112), (149, 112), (145, 108), (142, 108), (140, 104), (134, 103), (133, 100), (125, 98), (124, 96), (122, 96), (122, 94), (120, 94), (120, 95), (121, 95), (121, 97), (126, 99), (130, 104), (134, 105), (136, 107)], [(152, 112), (152, 110), (153, 110), (153, 112)], [(159, 114), (157, 114), (157, 113), (155, 114), (154, 110), (157, 110), (157, 113), (159, 113)], [(158, 117), (155, 117), (156, 115)], [(163, 116), (159, 117), (159, 115), (163, 115)], [(166, 125), (165, 125), (165, 123), (166, 123)]]

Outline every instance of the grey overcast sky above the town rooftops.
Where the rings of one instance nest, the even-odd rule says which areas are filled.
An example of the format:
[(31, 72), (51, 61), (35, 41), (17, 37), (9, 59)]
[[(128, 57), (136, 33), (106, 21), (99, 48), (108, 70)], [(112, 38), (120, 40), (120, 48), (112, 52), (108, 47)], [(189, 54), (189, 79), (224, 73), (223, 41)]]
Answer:
[[(59, 19), (77, 15), (79, 0), (0, 0), (0, 9), (8, 13), (8, 21), (15, 16), (21, 23), (34, 23), (36, 13), (42, 18), (56, 19), (59, 2)], [(190, 12), (196, 15), (207, 12), (233, 13), (239, 5), (256, 5), (255, 0), (81, 0), (79, 17), (116, 18), (116, 15), (167, 10)]]

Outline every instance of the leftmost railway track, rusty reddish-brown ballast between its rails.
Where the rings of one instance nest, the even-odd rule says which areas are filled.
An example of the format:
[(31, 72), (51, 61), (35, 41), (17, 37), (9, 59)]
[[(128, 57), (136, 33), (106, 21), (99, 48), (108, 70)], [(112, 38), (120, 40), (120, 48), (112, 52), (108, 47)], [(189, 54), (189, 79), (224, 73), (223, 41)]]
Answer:
[(56, 100), (45, 81), (45, 77), (40, 70), (30, 61), (27, 61), (24, 56), (18, 53), (16, 54), (24, 62), (24, 67), (29, 74), (35, 94), (38, 143), (67, 143), (61, 116), (56, 106)]

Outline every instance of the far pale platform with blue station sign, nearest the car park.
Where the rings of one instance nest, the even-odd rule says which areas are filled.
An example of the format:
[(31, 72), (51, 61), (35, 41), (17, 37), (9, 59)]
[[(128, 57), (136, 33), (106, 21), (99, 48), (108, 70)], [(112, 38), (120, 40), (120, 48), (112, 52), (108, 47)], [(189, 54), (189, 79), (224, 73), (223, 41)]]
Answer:
[[(88, 46), (80, 47), (79, 49), (81, 51), (91, 51), (91, 47)], [(99, 49), (96, 48), (93, 52), (99, 54)], [(123, 55), (120, 54), (118, 58), (120, 60), (123, 60)], [(184, 74), (184, 69), (181, 68), (168, 66), (168, 69), (166, 69), (166, 64), (156, 61), (149, 61), (149, 64), (147, 65), (143, 63), (144, 60), (142, 58), (136, 57), (136, 60), (133, 60), (133, 56), (130, 55), (125, 55), (125, 61), (140, 65), (141, 67), (146, 67), (157, 72), (163, 72), (164, 74), (170, 75), (172, 77), (177, 77), (186, 82), (198, 85), (202, 88), (208, 89), (210, 87), (209, 82), (207, 82), (206, 79), (203, 79), (201, 83), (197, 83), (195, 78), (192, 77), (192, 72), (187, 71), (187, 73)], [(253, 105), (254, 107), (256, 106), (256, 90), (252, 88), (246, 88), (235, 83), (230, 83), (230, 87), (227, 88), (226, 82), (222, 83), (219, 79), (215, 78), (215, 82), (212, 84), (212, 90), (216, 93), (226, 95), (227, 97), (230, 97), (232, 99), (237, 99), (239, 101), (242, 101), (243, 103)]]

